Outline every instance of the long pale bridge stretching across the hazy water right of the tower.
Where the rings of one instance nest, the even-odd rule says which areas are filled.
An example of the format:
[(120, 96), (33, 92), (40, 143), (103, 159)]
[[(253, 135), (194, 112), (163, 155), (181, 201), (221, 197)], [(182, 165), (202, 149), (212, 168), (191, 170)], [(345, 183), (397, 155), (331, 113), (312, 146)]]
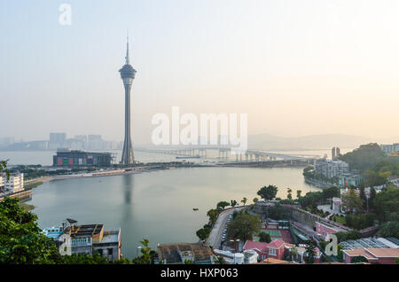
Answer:
[(263, 150), (250, 149), (239, 151), (237, 148), (224, 145), (191, 145), (191, 146), (165, 146), (165, 147), (136, 147), (136, 151), (145, 153), (171, 154), (179, 157), (200, 157), (207, 159), (209, 153), (217, 153), (219, 160), (236, 161), (313, 161), (318, 155), (270, 153)]

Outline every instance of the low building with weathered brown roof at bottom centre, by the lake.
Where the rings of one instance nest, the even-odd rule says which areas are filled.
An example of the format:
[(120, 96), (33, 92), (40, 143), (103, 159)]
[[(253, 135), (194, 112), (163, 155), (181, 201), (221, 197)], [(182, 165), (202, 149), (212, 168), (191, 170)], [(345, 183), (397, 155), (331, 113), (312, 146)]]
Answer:
[(213, 264), (214, 253), (203, 243), (176, 243), (158, 246), (158, 257), (164, 264)]

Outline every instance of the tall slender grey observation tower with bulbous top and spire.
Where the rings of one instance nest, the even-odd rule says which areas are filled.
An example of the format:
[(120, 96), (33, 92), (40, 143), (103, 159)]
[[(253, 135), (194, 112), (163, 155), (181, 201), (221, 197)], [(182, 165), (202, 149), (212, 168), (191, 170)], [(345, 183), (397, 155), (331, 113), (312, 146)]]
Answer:
[(126, 49), (126, 63), (119, 71), (121, 73), (121, 79), (125, 88), (125, 140), (123, 143), (123, 151), (121, 156), (121, 164), (129, 165), (135, 162), (133, 146), (131, 145), (130, 137), (130, 92), (133, 80), (135, 79), (136, 70), (131, 67), (129, 63), (129, 38)]

